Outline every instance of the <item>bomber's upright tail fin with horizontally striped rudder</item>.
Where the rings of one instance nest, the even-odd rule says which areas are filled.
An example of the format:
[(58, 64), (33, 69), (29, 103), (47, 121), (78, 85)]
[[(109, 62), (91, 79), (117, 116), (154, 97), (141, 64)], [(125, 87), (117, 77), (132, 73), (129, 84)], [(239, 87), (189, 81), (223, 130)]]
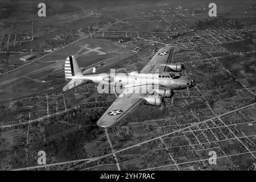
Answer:
[(65, 61), (65, 77), (81, 76), (81, 69), (74, 56), (67, 57)]

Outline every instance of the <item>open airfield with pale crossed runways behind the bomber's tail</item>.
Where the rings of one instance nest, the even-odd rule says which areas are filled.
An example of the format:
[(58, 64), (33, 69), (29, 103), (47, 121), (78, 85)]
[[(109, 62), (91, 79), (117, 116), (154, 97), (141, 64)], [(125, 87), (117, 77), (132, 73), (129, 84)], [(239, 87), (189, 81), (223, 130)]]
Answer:
[[(99, 50), (93, 48), (99, 48)], [(1, 94), (0, 100), (3, 101), (6, 98), (15, 100), (16, 97), (35, 94), (33, 88), (36, 88), (38, 92), (43, 92), (63, 85), (65, 80), (60, 78), (64, 77), (65, 59), (70, 55), (74, 55), (80, 67), (86, 69), (97, 63), (105, 63), (105, 66), (111, 65), (132, 54), (133, 52), (109, 40), (82, 39), (42, 59), (36, 59), (32, 63), (2, 75), (1, 89), (5, 89), (5, 93)]]

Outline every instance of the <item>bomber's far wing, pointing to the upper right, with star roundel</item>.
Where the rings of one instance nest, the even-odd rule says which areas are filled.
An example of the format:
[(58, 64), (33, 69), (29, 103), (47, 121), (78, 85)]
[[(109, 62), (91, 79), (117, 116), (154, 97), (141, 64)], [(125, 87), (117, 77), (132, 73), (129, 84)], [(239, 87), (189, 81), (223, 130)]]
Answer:
[(168, 46), (160, 48), (154, 57), (146, 64), (146, 66), (141, 70), (141, 73), (156, 72), (168, 72), (170, 68), (166, 67), (164, 64), (170, 64), (172, 61), (172, 56), (174, 55), (174, 48)]

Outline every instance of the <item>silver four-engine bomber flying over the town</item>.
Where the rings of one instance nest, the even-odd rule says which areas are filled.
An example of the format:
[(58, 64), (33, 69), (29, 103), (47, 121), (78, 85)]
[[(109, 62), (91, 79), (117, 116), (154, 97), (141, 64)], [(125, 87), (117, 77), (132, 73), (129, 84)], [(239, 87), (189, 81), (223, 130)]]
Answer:
[[(174, 72), (184, 72), (183, 64), (171, 64), (174, 48), (160, 48), (140, 72), (121, 73), (92, 73), (83, 75), (74, 56), (65, 61), (65, 78), (71, 80), (64, 86), (67, 91), (87, 82), (101, 84), (113, 88), (120, 86), (119, 96), (97, 121), (101, 127), (111, 127), (117, 124), (127, 114), (139, 105), (162, 106), (164, 98), (171, 98), (174, 90), (188, 89), (196, 85), (195, 79)], [(156, 79), (157, 78), (157, 79)], [(135, 82), (134, 80), (140, 80)], [(105, 85), (104, 87), (105, 88)], [(144, 92), (141, 92), (144, 90)]]

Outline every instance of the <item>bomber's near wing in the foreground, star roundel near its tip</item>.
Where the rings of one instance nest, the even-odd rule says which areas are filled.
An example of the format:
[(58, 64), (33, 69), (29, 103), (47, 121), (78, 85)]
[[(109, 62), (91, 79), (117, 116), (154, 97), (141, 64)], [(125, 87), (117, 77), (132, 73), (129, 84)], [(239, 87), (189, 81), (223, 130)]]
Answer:
[(130, 114), (132, 111), (134, 111), (134, 109), (136, 109), (139, 104), (145, 102), (142, 97), (151, 94), (151, 90), (147, 90), (142, 94), (138, 92), (138, 89), (141, 88), (142, 86), (134, 86), (132, 88), (123, 89), (123, 92), (119, 94), (113, 104), (97, 121), (97, 125), (101, 127), (113, 126), (127, 114)]

